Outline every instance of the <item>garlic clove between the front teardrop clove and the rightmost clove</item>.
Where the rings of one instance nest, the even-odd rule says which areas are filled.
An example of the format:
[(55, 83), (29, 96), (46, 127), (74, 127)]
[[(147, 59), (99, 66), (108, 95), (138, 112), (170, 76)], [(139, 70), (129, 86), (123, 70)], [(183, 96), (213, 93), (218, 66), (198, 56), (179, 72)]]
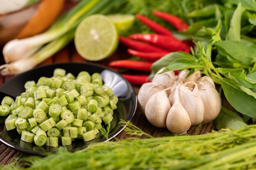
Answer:
[[(187, 87), (192, 84), (194, 88)], [(193, 82), (188, 82), (180, 85), (178, 88), (180, 103), (189, 114), (192, 125), (201, 123), (204, 119), (204, 103), (198, 91), (198, 85)]]

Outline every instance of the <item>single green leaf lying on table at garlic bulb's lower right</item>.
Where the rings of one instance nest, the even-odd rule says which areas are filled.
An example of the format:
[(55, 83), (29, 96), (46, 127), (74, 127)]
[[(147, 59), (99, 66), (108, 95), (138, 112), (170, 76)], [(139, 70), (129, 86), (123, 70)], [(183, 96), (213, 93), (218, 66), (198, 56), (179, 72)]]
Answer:
[(241, 118), (237, 113), (227, 110), (224, 107), (221, 108), (220, 114), (214, 120), (214, 124), (218, 130), (222, 128), (238, 130), (247, 126), (243, 118)]

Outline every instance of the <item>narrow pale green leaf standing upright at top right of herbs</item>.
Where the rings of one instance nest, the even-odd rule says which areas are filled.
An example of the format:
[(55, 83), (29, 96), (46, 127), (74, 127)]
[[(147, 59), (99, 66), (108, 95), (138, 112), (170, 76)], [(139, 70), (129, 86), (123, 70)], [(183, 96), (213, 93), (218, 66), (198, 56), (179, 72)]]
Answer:
[(240, 41), (241, 17), (242, 7), (241, 3), (239, 3), (230, 20), (229, 31), (226, 37), (227, 40)]

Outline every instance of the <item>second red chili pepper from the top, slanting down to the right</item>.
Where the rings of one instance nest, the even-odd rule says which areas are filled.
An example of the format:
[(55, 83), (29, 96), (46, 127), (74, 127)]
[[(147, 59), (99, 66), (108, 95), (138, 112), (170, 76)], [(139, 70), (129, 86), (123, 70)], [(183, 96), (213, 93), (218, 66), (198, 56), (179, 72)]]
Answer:
[(166, 36), (172, 36), (170, 30), (166, 29), (162, 25), (159, 25), (157, 22), (154, 22), (153, 20), (150, 20), (149, 18), (146, 18), (145, 16), (141, 16), (139, 14), (135, 14), (136, 18), (138, 18), (142, 23), (144, 23), (146, 26), (148, 26), (150, 29), (155, 31), (158, 34), (166, 35)]

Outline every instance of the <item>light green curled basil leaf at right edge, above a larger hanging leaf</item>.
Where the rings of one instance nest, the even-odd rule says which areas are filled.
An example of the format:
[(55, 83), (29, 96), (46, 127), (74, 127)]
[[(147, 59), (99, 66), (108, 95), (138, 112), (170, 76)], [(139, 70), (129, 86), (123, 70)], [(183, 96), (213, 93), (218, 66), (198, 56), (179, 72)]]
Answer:
[(247, 88), (252, 88), (256, 83), (249, 82), (246, 78), (245, 75), (245, 70), (241, 68), (237, 69), (224, 69), (224, 68), (217, 68), (217, 71), (224, 75), (227, 78), (230, 78), (234, 81), (237, 81), (241, 85), (247, 87)]

